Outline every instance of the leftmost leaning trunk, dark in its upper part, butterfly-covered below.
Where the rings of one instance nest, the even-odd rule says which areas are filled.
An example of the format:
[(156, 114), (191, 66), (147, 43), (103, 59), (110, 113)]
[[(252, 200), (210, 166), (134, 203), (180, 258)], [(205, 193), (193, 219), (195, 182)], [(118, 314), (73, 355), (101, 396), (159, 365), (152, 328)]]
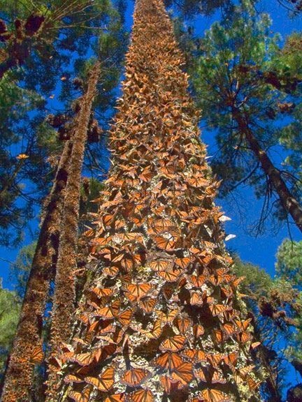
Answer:
[(20, 321), (3, 387), (2, 402), (29, 401), (29, 389), (34, 368), (33, 352), (41, 348), (43, 315), (48, 298), (50, 278), (55, 274), (62, 220), (64, 190), (72, 143), (66, 142), (57, 168), (52, 191), (45, 202), (45, 211), (38, 243), (31, 265)]

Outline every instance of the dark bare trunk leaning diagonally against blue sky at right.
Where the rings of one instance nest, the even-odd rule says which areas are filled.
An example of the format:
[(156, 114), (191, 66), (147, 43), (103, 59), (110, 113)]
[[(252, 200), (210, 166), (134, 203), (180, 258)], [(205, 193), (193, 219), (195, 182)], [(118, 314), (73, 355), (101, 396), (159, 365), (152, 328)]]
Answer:
[(297, 227), (302, 232), (302, 206), (299, 204), (298, 200), (296, 200), (294, 195), (292, 195), (291, 191), (289, 191), (287, 184), (282, 179), (280, 170), (275, 168), (266, 151), (262, 149), (257, 138), (248, 126), (243, 114), (236, 107), (232, 108), (232, 112), (233, 118), (236, 120), (240, 132), (245, 135), (247, 144), (249, 144), (254, 156), (256, 156), (257, 160), (260, 162), (261, 168), (264, 170), (264, 173), (271, 181), (275, 192), (278, 194), (282, 207), (292, 216)]

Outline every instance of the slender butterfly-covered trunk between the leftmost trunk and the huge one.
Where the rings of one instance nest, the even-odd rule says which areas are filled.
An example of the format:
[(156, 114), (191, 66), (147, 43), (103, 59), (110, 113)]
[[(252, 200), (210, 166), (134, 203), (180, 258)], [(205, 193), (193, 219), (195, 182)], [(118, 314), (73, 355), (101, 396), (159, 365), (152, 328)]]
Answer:
[[(52, 323), (50, 332), (51, 355), (69, 340), (71, 335), (71, 317), (75, 308), (76, 253), (78, 244), (78, 223), (80, 208), (80, 183), (85, 144), (92, 103), (96, 94), (96, 84), (99, 80), (100, 64), (96, 62), (92, 68), (87, 83), (87, 91), (80, 100), (80, 112), (73, 135), (73, 150), (69, 165), (66, 184), (62, 232), (59, 238), (59, 256), (55, 277), (55, 293), (52, 307)], [(54, 392), (56, 367), (49, 364), (48, 393)]]

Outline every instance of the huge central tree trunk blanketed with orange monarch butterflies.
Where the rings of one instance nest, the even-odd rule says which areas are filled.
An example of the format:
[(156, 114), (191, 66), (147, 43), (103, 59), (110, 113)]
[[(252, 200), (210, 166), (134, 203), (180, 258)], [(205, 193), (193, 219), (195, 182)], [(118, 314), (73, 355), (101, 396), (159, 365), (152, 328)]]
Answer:
[(52, 401), (259, 401), (217, 183), (161, 0), (137, 0), (88, 280)]

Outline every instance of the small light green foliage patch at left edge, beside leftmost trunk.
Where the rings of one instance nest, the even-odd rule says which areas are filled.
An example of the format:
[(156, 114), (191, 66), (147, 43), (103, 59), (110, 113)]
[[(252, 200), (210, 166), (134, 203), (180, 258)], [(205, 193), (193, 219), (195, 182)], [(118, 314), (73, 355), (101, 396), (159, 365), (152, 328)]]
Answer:
[(15, 292), (3, 289), (0, 282), (0, 382), (13, 343), (20, 313), (20, 299)]

